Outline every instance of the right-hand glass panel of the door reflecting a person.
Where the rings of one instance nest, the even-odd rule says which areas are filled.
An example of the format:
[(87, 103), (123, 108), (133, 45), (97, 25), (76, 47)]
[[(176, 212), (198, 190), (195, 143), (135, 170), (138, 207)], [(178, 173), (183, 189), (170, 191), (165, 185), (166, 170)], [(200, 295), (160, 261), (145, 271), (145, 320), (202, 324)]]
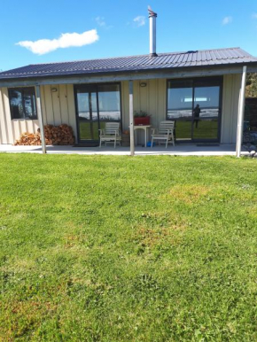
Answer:
[(220, 87), (194, 89), (192, 138), (217, 140), (219, 137)]

